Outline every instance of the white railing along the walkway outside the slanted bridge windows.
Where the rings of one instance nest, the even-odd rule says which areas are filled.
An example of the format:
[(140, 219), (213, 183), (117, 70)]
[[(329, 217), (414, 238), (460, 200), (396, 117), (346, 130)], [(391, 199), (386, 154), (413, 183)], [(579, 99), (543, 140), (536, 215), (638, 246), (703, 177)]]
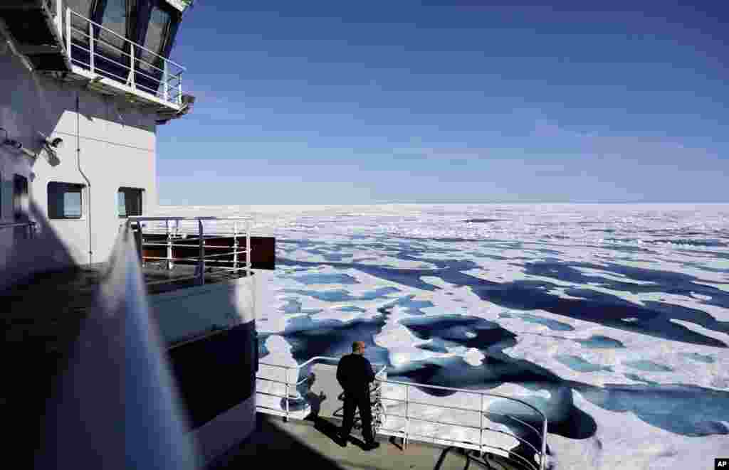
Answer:
[[(74, 25), (80, 20), (82, 26)], [(104, 39), (101, 31), (122, 41), (117, 47)], [(143, 97), (152, 97), (165, 105), (179, 109), (182, 106), (182, 73), (185, 68), (141, 44), (120, 36), (109, 28), (95, 23), (89, 18), (66, 8), (66, 50), (69, 54), (74, 73), (95, 79), (97, 76), (111, 79), (113, 84), (128, 92), (136, 92)], [(109, 49), (114, 55), (125, 57), (127, 63), (120, 63), (99, 52), (99, 48)], [(143, 56), (151, 55), (147, 60)], [(115, 73), (112, 68), (116, 68)], [(157, 84), (150, 87), (149, 82)], [(141, 82), (145, 82), (143, 84)]]

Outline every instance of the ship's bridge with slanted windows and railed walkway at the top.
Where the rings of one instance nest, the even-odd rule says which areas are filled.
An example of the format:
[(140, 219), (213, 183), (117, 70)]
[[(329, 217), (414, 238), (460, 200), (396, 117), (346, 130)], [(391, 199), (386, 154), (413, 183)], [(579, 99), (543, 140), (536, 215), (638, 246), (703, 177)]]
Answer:
[(168, 119), (187, 111), (182, 65), (170, 60), (192, 0), (4, 0), (0, 32), (26, 65), (82, 80), (106, 95), (151, 105)]

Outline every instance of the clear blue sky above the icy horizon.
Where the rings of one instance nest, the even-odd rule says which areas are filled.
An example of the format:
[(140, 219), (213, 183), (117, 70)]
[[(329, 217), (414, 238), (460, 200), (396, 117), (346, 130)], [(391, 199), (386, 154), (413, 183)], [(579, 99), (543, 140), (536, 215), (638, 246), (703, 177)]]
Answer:
[(729, 7), (592, 3), (199, 0), (160, 204), (729, 202)]

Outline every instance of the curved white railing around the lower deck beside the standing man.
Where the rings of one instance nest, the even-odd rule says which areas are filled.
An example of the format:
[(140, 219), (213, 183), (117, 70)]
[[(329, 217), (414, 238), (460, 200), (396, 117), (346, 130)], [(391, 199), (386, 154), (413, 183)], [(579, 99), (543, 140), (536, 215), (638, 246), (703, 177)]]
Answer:
[[(273, 378), (260, 377), (259, 374), (257, 374), (256, 375), (257, 380), (270, 381), (273, 383), (283, 383), (283, 384), (285, 384), (285, 394), (279, 395), (279, 394), (272, 394), (272, 393), (261, 392), (261, 391), (257, 391), (256, 393), (263, 394), (263, 395), (269, 395), (269, 396), (273, 396), (273, 397), (284, 398), (286, 405), (285, 405), (285, 410), (283, 410), (283, 412), (281, 412), (281, 410), (278, 410), (276, 408), (265, 407), (265, 406), (257, 406), (257, 410), (260, 411), (261, 413), (282, 415), (286, 419), (294, 417), (295, 414), (289, 410), (289, 401), (291, 399), (296, 399), (297, 397), (295, 397), (295, 395), (292, 395), (290, 393), (290, 388), (291, 388), (291, 386), (297, 387), (308, 380), (308, 377), (301, 378), (299, 380), (296, 379), (296, 378), (298, 378), (300, 369), (302, 367), (305, 367), (305, 366), (311, 364), (314, 361), (336, 362), (338, 360), (339, 360), (339, 358), (335, 358), (335, 357), (316, 356), (316, 357), (312, 357), (311, 359), (308, 359), (306, 362), (303, 362), (302, 364), (296, 365), (296, 366), (277, 365), (277, 364), (270, 364), (268, 362), (260, 361), (259, 362), (260, 365), (281, 368), (282, 370), (284, 370), (284, 373), (286, 374), (286, 378), (284, 381), (280, 381), (280, 380), (273, 379)], [(451, 445), (453, 445), (454, 447), (462, 447), (464, 449), (478, 450), (479, 455), (483, 455), (483, 453), (486, 450), (496, 450), (496, 451), (499, 451), (499, 453), (501, 453), (502, 455), (505, 454), (505, 456), (507, 456), (507, 458), (512, 458), (512, 459), (515, 459), (516, 461), (526, 464), (526, 466), (528, 466), (531, 469), (545, 470), (546, 459), (547, 459), (547, 417), (537, 407), (534, 407), (533, 405), (530, 405), (529, 403), (525, 402), (524, 400), (521, 400), (518, 398), (507, 397), (506, 395), (494, 394), (494, 393), (486, 392), (486, 391), (456, 389), (454, 387), (426, 385), (424, 383), (391, 381), (391, 380), (381, 378), (385, 369), (386, 369), (386, 367), (382, 367), (382, 369), (378, 370), (378, 372), (375, 374), (375, 381), (377, 381), (379, 383), (379, 386), (375, 386), (375, 389), (373, 390), (373, 391), (375, 391), (375, 403), (373, 403), (373, 407), (375, 407), (376, 413), (378, 413), (378, 415), (383, 415), (383, 418), (378, 423), (378, 421), (375, 419), (375, 416), (373, 413), (373, 422), (378, 423), (378, 426), (376, 426), (375, 429), (373, 430), (373, 431), (375, 431), (375, 433), (386, 434), (386, 435), (395, 436), (395, 437), (401, 437), (403, 440), (403, 448), (407, 448), (408, 442), (410, 440), (422, 441), (422, 442), (431, 442), (431, 441), (437, 440), (437, 441), (442, 441), (442, 442), (443, 441), (450, 442)], [(291, 377), (290, 373), (292, 373), (292, 372), (296, 373), (296, 378), (293, 379), (293, 381), (290, 378)], [(382, 386), (384, 384), (393, 384), (396, 386), (404, 386), (405, 387), (405, 399), (383, 397)], [(416, 400), (411, 399), (411, 397), (410, 397), (411, 387), (414, 387), (417, 389), (446, 390), (446, 391), (473, 394), (473, 395), (476, 395), (479, 397), (480, 407), (478, 410), (475, 410), (473, 408), (454, 407), (451, 405), (437, 405), (434, 403), (418, 402)], [(512, 416), (510, 414), (486, 411), (486, 408), (484, 407), (484, 405), (485, 405), (484, 399), (486, 397), (491, 398), (491, 399), (504, 399), (504, 400), (508, 400), (510, 402), (515, 402), (515, 403), (523, 405), (528, 410), (531, 410), (531, 412), (534, 412), (534, 414), (537, 416), (537, 418), (539, 418), (539, 421), (541, 421), (541, 426), (540, 426), (541, 431), (539, 429), (537, 429), (536, 427), (531, 426), (531, 424), (526, 423), (525, 421), (523, 421), (515, 416)], [(405, 405), (405, 415), (397, 415), (394, 413), (389, 413), (387, 411), (387, 407), (384, 406), (383, 403), (381, 403), (381, 400), (388, 400), (388, 401), (402, 403), (403, 405)], [(441, 421), (441, 420), (437, 420), (437, 419), (429, 420), (426, 418), (418, 418), (411, 413), (412, 407), (410, 405), (424, 405), (424, 406), (439, 408), (441, 410), (459, 410), (459, 411), (467, 411), (467, 412), (476, 412), (476, 413), (479, 413), (479, 415), (480, 415), (480, 425), (479, 426), (469, 426), (469, 425), (463, 424), (463, 423), (450, 423), (450, 422)], [(517, 434), (515, 434), (513, 432), (503, 431), (502, 429), (493, 429), (489, 426), (486, 426), (486, 424), (484, 423), (484, 416), (486, 414), (499, 415), (504, 418), (511, 419), (511, 420), (515, 421), (515, 423), (519, 423), (521, 426), (526, 426), (527, 429), (534, 431), (534, 433), (537, 434), (537, 436), (539, 437), (540, 448), (538, 449), (537, 447), (534, 447), (534, 445), (532, 445), (531, 442), (524, 439), (523, 437), (518, 436)], [(388, 418), (388, 417), (405, 419), (404, 428), (403, 429), (386, 429), (386, 428), (384, 428), (383, 423), (386, 422), (386, 418)], [(411, 421), (422, 421), (422, 422), (428, 422), (428, 423), (434, 423), (434, 424), (440, 424), (440, 425), (446, 425), (446, 426), (478, 429), (479, 430), (479, 440), (476, 443), (476, 442), (464, 441), (462, 439), (450, 439), (448, 437), (443, 437), (443, 436), (420, 434), (420, 433), (413, 431), (413, 429), (411, 429), (412, 428), (412, 426), (410, 426)], [(520, 445), (524, 445), (524, 446), (528, 447), (529, 449), (531, 449), (532, 451), (534, 451), (534, 455), (537, 457), (537, 459), (539, 461), (538, 466), (537, 466), (537, 463), (529, 461), (523, 455), (514, 453), (510, 449), (506, 449), (504, 447), (499, 447), (499, 446), (495, 446), (495, 445), (484, 444), (483, 443), (483, 432), (484, 431), (491, 431), (491, 432), (494, 432), (497, 434), (504, 434), (512, 439), (516, 439)]]

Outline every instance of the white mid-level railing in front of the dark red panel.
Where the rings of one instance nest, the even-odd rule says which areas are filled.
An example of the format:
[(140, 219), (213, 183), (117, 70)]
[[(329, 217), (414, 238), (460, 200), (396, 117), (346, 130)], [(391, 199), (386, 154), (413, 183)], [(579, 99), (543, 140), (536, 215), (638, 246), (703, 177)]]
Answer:
[[(164, 223), (165, 228), (151, 228), (147, 231), (147, 233), (151, 234), (166, 234), (167, 238), (163, 242), (144, 242), (144, 224), (142, 222), (155, 222), (155, 223)], [(171, 227), (170, 222), (174, 222), (175, 226)], [(206, 235), (205, 226), (203, 225), (204, 222), (208, 223), (225, 223), (226, 226), (232, 226), (233, 233), (232, 234), (225, 234), (225, 232), (216, 231), (215, 234), (208, 234)], [(198, 234), (196, 237), (188, 237), (181, 233), (180, 231), (180, 223), (194, 223), (196, 228), (198, 229)], [(246, 271), (246, 277), (251, 276), (251, 219), (246, 217), (213, 217), (213, 216), (206, 216), (206, 217), (179, 217), (179, 216), (130, 216), (126, 219), (124, 226), (127, 228), (134, 225), (133, 228), (136, 228), (139, 230), (139, 239), (141, 239), (141, 247), (140, 250), (144, 250), (144, 247), (166, 247), (166, 256), (144, 256), (144, 251), (142, 251), (142, 261), (145, 260), (157, 260), (157, 261), (165, 261), (165, 264), (168, 268), (168, 270), (171, 270), (174, 268), (175, 261), (196, 261), (197, 267), (195, 268), (195, 274), (192, 276), (182, 276), (182, 277), (174, 277), (171, 279), (163, 279), (161, 281), (153, 281), (153, 282), (147, 282), (147, 285), (152, 284), (163, 284), (168, 282), (177, 282), (177, 281), (184, 281), (189, 279), (197, 279), (198, 284), (205, 284), (205, 271), (206, 271), (206, 260), (210, 260), (211, 262), (217, 263), (217, 264), (230, 264), (232, 266), (226, 267), (226, 266), (215, 266), (215, 268), (218, 271), (230, 271), (230, 272), (238, 272), (238, 271)], [(243, 225), (243, 227), (241, 227)], [(241, 243), (239, 242), (239, 238), (241, 238), (241, 233), (238, 231), (239, 228), (243, 228), (243, 236), (245, 238), (244, 242), (244, 248), (241, 248)], [(206, 236), (208, 236), (208, 239), (211, 238), (219, 238), (221, 236), (232, 236), (233, 237), (233, 243), (230, 245), (230, 250), (232, 251), (226, 251), (223, 253), (214, 253), (214, 254), (207, 254), (205, 252), (206, 248)], [(196, 244), (193, 244), (194, 242), (197, 242)], [(185, 248), (198, 248), (198, 256), (193, 258), (175, 258), (173, 256), (173, 249), (174, 247), (185, 247)], [(220, 245), (214, 245), (211, 247), (215, 248), (225, 248)], [(245, 254), (246, 258), (245, 261), (241, 261), (238, 255)], [(233, 256), (233, 260), (215, 260), (213, 258), (219, 258), (221, 256)]]

